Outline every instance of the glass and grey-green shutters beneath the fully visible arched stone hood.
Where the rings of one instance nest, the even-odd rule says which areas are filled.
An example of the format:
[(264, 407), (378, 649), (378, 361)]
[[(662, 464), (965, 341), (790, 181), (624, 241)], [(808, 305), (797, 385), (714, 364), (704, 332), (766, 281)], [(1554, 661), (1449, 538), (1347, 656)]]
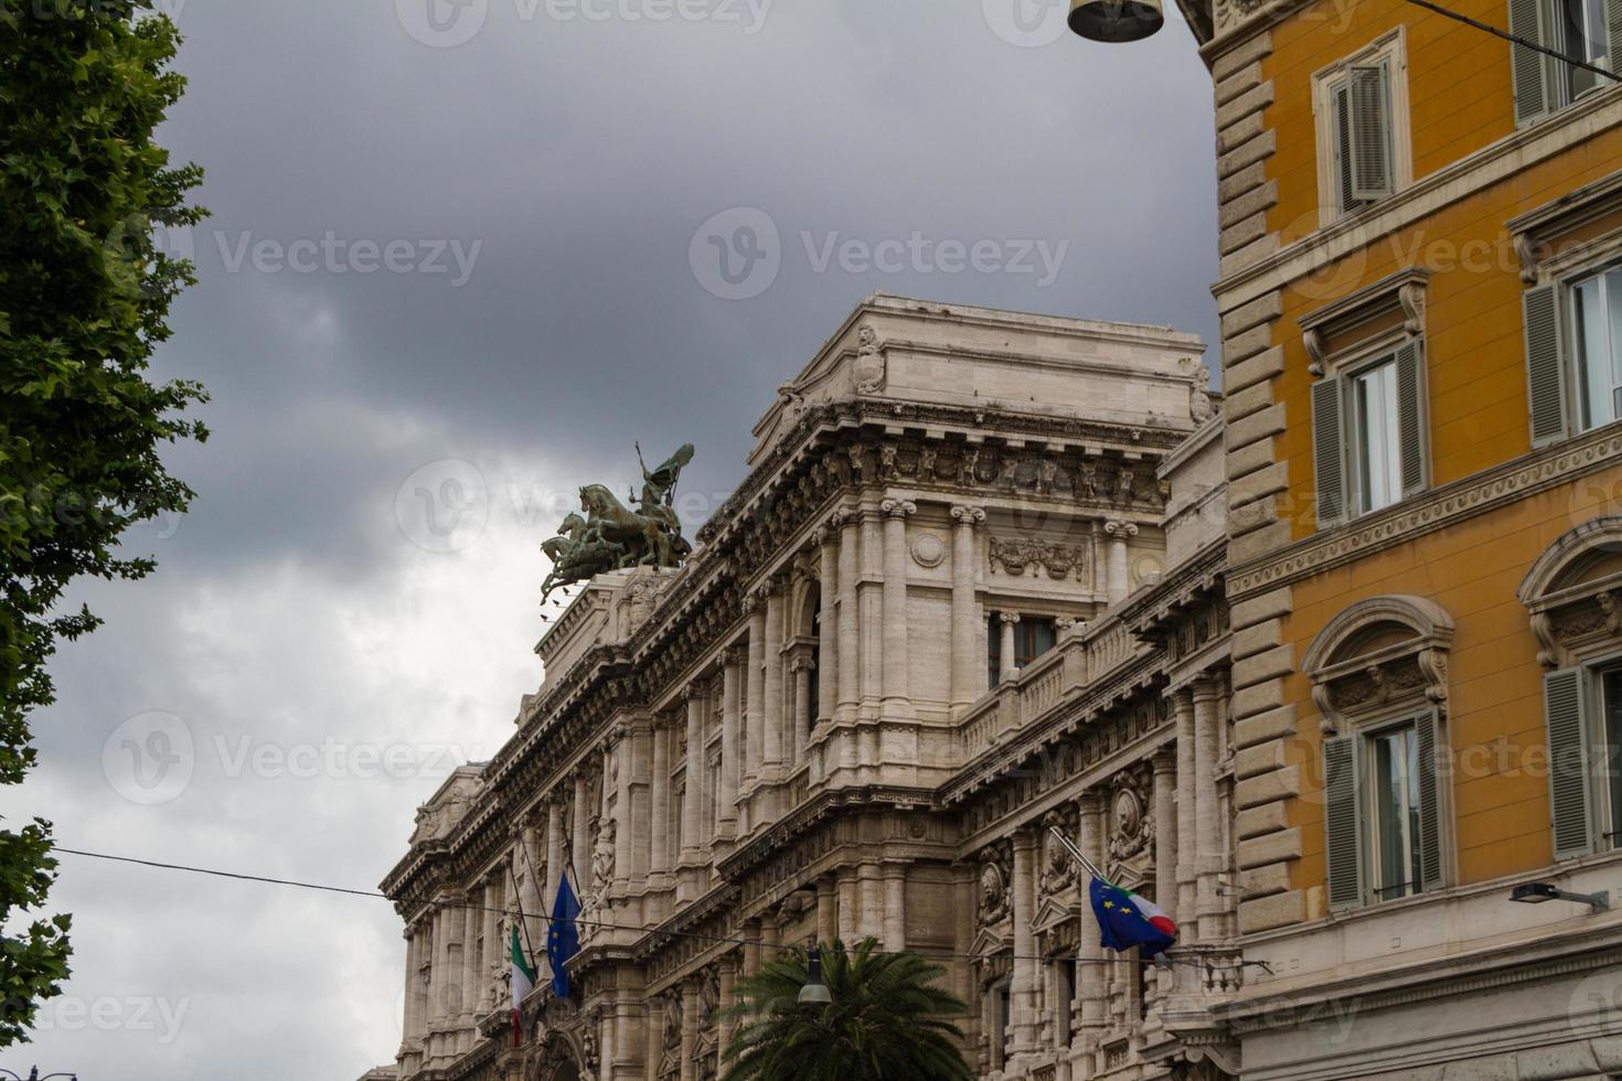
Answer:
[(1434, 711), (1324, 741), (1332, 909), (1445, 885), (1440, 767), (1447, 752)]

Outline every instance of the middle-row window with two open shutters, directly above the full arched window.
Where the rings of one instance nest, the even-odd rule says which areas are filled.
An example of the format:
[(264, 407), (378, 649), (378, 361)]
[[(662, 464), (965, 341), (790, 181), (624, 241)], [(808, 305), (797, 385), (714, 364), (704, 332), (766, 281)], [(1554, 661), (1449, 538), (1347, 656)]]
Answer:
[(1418, 340), (1312, 386), (1319, 528), (1388, 507), (1431, 483)]

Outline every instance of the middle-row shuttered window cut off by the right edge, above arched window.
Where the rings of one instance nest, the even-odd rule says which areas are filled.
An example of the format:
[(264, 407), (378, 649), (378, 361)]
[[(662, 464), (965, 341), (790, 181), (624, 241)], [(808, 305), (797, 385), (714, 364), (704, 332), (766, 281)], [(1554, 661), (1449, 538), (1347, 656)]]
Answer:
[(1622, 264), (1523, 295), (1533, 446), (1622, 420)]

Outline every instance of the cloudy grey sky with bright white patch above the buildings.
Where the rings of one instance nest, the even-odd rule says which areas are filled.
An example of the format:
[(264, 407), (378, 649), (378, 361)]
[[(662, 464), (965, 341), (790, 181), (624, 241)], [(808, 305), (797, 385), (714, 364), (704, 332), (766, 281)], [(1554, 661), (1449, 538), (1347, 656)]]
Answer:
[[(1058, 0), (162, 3), (191, 79), (162, 136), (212, 217), (169, 238), (201, 280), (157, 374), (206, 381), (214, 438), (170, 455), (193, 512), (131, 538), (157, 575), (79, 592), (107, 626), (0, 797), (70, 848), (375, 887), (540, 679), (568, 493), (693, 441), (714, 506), (869, 292), (1215, 337), (1174, 15), (1105, 47)], [(0, 1068), (393, 1060), (383, 901), (71, 856), (54, 899), (73, 979)]]

